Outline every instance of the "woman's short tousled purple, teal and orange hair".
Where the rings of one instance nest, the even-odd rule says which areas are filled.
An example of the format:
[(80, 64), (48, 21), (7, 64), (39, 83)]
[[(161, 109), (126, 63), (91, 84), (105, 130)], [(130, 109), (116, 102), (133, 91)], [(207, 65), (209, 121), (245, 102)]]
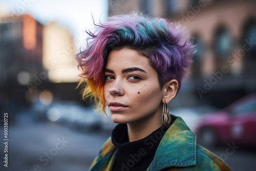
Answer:
[[(111, 50), (130, 48), (138, 51), (151, 61), (158, 73), (160, 87), (169, 80), (176, 79), (181, 88), (181, 80), (195, 53), (190, 36), (185, 35), (180, 25), (167, 22), (164, 18), (151, 18), (143, 14), (113, 16), (105, 24), (95, 25), (86, 50), (76, 55), (78, 68), (82, 70), (82, 80), (86, 83), (83, 98), (94, 97), (99, 111), (105, 112), (104, 67)], [(178, 90), (178, 91), (179, 91)]]

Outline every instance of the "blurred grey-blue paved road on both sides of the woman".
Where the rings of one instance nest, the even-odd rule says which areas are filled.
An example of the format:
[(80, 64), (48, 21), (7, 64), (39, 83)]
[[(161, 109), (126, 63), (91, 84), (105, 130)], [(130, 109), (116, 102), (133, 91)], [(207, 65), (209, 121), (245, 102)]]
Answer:
[[(1, 161), (0, 170), (88, 170), (109, 135), (110, 131), (79, 132), (54, 123), (13, 124), (9, 126), (8, 168)], [(3, 160), (3, 143), (0, 148)], [(227, 148), (223, 146), (211, 150), (221, 156), (233, 171), (255, 170), (255, 151), (237, 148), (231, 154)]]

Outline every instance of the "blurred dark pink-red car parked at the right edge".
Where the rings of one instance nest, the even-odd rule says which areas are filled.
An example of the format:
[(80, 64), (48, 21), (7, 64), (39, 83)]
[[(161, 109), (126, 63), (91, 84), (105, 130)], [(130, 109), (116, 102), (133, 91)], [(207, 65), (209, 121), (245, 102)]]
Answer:
[(245, 96), (223, 110), (206, 115), (196, 134), (203, 146), (234, 143), (256, 146), (256, 94)]

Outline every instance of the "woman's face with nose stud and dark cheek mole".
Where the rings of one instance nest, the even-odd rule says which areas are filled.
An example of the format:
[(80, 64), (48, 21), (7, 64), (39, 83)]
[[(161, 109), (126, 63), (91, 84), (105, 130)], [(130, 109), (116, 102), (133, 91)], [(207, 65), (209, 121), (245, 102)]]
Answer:
[(132, 49), (112, 50), (104, 76), (104, 97), (113, 122), (132, 123), (155, 115), (161, 117), (163, 91), (148, 58)]

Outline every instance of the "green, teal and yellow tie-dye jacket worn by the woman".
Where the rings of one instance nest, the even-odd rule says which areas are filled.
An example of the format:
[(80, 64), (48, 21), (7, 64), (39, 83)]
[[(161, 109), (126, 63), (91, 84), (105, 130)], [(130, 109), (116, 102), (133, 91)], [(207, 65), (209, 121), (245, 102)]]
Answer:
[[(100, 149), (90, 170), (112, 170), (115, 153), (116, 148), (110, 137)], [(127, 167), (125, 170), (128, 170)], [(164, 134), (155, 157), (147, 168), (147, 171), (157, 170), (210, 171), (230, 170), (230, 168), (218, 156), (197, 145), (196, 135), (190, 131), (180, 117), (177, 117)]]

